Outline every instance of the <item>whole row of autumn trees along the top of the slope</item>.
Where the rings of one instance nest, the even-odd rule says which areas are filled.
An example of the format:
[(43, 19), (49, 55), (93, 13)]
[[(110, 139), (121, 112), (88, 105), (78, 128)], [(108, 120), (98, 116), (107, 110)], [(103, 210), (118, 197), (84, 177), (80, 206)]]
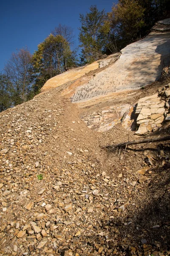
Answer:
[(110, 13), (91, 6), (79, 15), (79, 55), (73, 29), (59, 24), (33, 55), (27, 47), (12, 53), (0, 73), (0, 111), (32, 99), (51, 77), (120, 51), (168, 16), (170, 0), (119, 0)]

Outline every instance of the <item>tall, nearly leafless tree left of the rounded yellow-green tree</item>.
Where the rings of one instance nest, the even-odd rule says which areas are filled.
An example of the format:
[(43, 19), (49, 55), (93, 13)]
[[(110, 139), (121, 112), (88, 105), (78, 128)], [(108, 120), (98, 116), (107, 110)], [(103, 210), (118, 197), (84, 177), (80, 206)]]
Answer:
[(26, 102), (32, 85), (31, 54), (28, 48), (17, 49), (17, 52), (13, 52), (4, 71), (11, 82), (14, 105)]

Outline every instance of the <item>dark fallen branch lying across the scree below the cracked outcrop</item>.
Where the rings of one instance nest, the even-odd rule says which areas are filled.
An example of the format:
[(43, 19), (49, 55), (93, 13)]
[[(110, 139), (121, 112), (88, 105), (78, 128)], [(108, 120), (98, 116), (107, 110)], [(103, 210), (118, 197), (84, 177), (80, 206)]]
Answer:
[(170, 136), (165, 136), (165, 137), (161, 137), (161, 138), (153, 138), (153, 139), (145, 139), (145, 140), (133, 140), (133, 141), (124, 142), (124, 143), (120, 143), (120, 144), (108, 145), (103, 148), (108, 148), (108, 149), (109, 148), (117, 149), (117, 148), (123, 148), (123, 147), (126, 148), (128, 145), (137, 145), (137, 144), (142, 144), (142, 143), (165, 141), (165, 140), (170, 140)]

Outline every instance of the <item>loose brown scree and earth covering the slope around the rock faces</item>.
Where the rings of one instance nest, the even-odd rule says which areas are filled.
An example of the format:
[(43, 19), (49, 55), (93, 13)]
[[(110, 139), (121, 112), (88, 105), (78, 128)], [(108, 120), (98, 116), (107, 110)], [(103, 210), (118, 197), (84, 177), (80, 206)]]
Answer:
[(0, 255), (170, 255), (169, 143), (106, 151), (139, 137), (90, 130), (64, 88), (0, 113)]

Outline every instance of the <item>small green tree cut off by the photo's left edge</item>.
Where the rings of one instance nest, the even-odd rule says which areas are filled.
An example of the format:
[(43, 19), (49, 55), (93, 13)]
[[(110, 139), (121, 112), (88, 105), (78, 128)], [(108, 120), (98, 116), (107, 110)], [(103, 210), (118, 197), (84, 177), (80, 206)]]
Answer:
[(0, 73), (0, 112), (11, 106), (11, 82), (6, 75)]

